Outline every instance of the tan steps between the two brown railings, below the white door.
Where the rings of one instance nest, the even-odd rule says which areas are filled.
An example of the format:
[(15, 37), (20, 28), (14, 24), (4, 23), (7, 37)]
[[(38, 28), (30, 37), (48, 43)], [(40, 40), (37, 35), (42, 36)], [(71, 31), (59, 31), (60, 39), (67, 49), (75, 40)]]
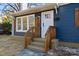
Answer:
[(44, 51), (44, 39), (43, 38), (34, 38), (30, 45), (28, 45), (28, 49)]

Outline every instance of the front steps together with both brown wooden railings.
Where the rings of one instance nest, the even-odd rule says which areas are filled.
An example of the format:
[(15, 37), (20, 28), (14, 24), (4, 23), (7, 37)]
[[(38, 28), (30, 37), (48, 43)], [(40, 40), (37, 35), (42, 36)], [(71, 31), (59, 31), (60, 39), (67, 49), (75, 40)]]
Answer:
[(54, 26), (49, 26), (45, 38), (39, 38), (37, 27), (38, 26), (30, 28), (28, 32), (26, 32), (24, 48), (47, 52), (50, 49), (51, 40), (56, 38), (56, 28)]

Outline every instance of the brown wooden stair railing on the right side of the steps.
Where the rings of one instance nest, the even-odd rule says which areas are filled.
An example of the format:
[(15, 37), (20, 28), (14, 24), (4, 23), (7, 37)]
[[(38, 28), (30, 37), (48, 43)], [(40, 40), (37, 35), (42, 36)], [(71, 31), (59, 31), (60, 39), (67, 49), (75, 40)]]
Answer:
[(50, 26), (45, 34), (45, 49), (44, 51), (47, 52), (51, 46), (51, 40), (56, 37), (56, 29), (54, 26)]

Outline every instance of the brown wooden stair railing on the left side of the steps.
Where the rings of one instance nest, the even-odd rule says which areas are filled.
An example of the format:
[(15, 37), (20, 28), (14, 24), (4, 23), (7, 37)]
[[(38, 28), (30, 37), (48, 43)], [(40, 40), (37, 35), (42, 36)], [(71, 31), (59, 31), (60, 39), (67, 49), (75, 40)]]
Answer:
[(33, 37), (34, 37), (34, 31), (35, 30), (35, 27), (31, 27), (24, 35), (25, 37), (25, 44), (24, 44), (24, 48), (27, 48), (28, 45), (30, 44), (30, 42), (33, 40)]

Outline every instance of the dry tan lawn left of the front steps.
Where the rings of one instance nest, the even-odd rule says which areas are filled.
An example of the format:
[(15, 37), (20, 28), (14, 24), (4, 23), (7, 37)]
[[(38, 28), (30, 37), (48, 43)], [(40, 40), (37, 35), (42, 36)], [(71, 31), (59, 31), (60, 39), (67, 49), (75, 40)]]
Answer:
[(24, 49), (24, 37), (0, 35), (0, 56), (15, 56)]

